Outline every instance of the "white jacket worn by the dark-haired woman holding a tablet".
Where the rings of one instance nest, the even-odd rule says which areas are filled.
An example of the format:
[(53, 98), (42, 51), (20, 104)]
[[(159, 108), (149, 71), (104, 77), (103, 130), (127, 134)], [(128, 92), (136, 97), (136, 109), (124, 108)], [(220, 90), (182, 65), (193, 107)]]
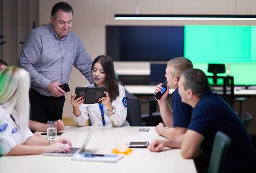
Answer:
[[(89, 86), (94, 86), (94, 83)], [(88, 87), (88, 86), (86, 86)], [(112, 101), (112, 105), (115, 107), (115, 113), (112, 116), (109, 116), (107, 108), (103, 106), (104, 118), (106, 126), (116, 126), (120, 127), (124, 124), (126, 115), (127, 115), (127, 104), (125, 97), (124, 87), (118, 85), (119, 87), (119, 96), (116, 97), (115, 100)], [(103, 126), (101, 119), (101, 112), (99, 108), (99, 104), (82, 104), (79, 107), (81, 115), (76, 117), (74, 115), (73, 121), (77, 126), (85, 126), (86, 120), (90, 119), (91, 125)], [(113, 123), (112, 123), (113, 122)]]

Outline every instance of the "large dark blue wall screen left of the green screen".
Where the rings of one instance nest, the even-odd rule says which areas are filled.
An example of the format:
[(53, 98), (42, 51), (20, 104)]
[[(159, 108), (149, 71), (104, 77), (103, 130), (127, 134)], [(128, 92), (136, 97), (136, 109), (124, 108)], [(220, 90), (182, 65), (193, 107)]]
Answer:
[(184, 54), (184, 27), (106, 26), (106, 53), (115, 61), (169, 61)]

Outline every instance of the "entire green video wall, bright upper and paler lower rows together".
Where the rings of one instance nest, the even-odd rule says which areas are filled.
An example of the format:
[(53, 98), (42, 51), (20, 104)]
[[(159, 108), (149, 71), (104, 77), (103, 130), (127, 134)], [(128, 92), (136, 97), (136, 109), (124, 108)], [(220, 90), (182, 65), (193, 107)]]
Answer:
[(256, 85), (256, 26), (187, 25), (184, 57), (208, 76), (208, 63), (224, 63), (235, 85)]

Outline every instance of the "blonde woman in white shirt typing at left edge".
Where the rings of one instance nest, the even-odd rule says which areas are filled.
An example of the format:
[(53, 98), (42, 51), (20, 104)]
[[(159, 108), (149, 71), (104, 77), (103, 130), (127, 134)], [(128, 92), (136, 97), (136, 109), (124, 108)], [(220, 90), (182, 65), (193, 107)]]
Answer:
[(2, 155), (28, 155), (69, 151), (67, 139), (48, 141), (28, 129), (30, 76), (18, 67), (8, 67), (0, 75), (0, 148)]

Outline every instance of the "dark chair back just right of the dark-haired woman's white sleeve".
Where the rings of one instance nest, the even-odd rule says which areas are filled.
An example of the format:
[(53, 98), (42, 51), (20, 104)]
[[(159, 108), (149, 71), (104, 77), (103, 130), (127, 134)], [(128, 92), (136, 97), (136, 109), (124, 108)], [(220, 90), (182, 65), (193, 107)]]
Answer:
[(139, 99), (127, 99), (127, 117), (130, 126), (141, 126), (141, 103)]

